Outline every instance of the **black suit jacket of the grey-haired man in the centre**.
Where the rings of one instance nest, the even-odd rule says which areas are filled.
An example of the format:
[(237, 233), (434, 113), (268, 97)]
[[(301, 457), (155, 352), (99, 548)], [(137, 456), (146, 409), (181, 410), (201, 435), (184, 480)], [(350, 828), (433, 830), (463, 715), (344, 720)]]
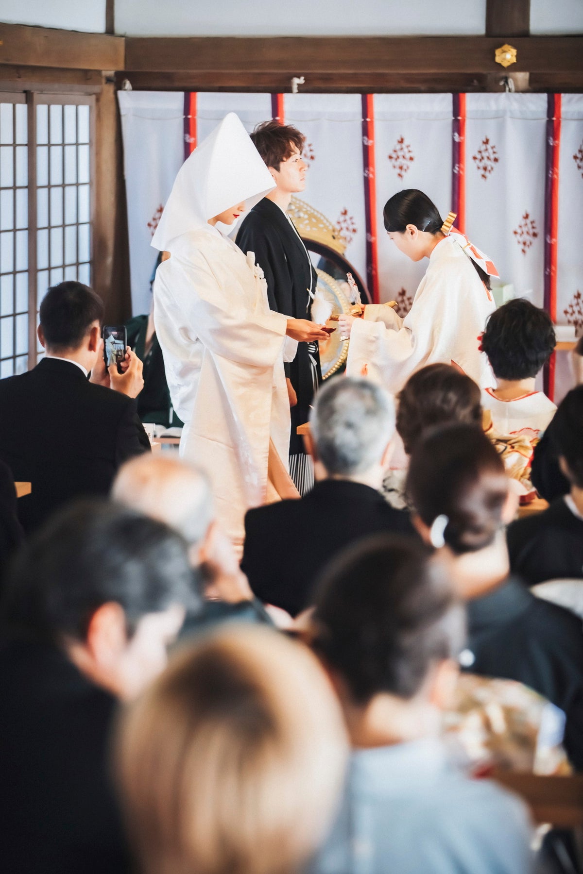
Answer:
[(413, 535), (405, 510), (370, 486), (323, 480), (299, 501), (248, 510), (241, 568), (260, 600), (295, 616), (309, 607), (318, 573), (344, 546), (378, 531)]

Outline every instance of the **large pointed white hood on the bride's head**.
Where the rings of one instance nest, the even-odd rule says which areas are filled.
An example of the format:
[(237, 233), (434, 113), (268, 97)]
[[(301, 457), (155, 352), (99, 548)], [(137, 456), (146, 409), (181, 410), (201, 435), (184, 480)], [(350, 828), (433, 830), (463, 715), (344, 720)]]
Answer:
[(183, 233), (242, 201), (250, 210), (274, 188), (239, 117), (229, 113), (178, 170), (152, 246), (171, 252), (172, 240)]

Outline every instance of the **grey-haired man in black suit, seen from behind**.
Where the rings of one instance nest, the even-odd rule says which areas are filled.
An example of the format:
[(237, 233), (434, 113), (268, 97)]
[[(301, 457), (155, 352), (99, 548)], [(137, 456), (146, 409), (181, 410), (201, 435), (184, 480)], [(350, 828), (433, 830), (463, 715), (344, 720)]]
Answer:
[(413, 536), (405, 510), (378, 492), (392, 449), (391, 397), (369, 380), (332, 378), (310, 416), (316, 485), (300, 501), (248, 510), (241, 569), (260, 600), (295, 616), (323, 566), (376, 531)]

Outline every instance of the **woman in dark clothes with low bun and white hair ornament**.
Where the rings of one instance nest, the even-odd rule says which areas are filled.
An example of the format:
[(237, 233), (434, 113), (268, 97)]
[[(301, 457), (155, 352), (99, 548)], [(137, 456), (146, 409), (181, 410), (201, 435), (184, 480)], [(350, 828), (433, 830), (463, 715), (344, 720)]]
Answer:
[(566, 752), (583, 770), (581, 621), (510, 576), (503, 529), (517, 498), (496, 449), (472, 425), (427, 432), (413, 448), (406, 489), (413, 524), (467, 601), (462, 667), (518, 680), (556, 704), (566, 714)]

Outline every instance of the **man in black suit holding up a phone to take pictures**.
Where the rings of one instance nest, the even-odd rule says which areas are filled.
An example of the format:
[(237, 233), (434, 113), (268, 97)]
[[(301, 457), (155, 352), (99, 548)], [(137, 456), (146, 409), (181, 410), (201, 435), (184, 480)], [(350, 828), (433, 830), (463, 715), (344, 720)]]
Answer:
[(80, 282), (61, 282), (39, 316), (45, 357), (0, 381), (0, 458), (15, 480), (32, 483), (18, 501), (26, 532), (73, 497), (107, 495), (121, 462), (149, 451), (135, 405), (142, 362), (128, 351), (123, 373), (116, 364), (106, 369), (101, 298)]

